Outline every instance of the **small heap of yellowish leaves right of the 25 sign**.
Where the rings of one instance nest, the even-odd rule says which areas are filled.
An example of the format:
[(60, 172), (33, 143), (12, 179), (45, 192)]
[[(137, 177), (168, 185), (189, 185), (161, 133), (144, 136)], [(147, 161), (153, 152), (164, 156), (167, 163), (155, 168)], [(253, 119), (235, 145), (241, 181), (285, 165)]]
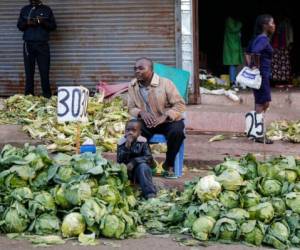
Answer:
[(268, 128), (267, 136), (274, 141), (284, 140), (300, 143), (300, 120), (272, 122)]

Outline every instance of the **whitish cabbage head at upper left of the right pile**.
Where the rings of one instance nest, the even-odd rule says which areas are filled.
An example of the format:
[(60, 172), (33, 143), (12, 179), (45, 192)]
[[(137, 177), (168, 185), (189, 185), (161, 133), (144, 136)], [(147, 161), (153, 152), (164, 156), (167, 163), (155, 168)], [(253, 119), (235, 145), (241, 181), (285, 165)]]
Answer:
[(216, 199), (221, 193), (221, 185), (214, 175), (202, 177), (194, 188), (194, 192), (202, 202)]

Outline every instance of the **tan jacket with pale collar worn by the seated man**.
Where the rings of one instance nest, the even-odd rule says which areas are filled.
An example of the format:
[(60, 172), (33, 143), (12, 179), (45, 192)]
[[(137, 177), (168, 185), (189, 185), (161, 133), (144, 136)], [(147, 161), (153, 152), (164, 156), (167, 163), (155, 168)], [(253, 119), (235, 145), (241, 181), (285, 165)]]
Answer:
[[(133, 117), (138, 117), (140, 111), (146, 111), (139, 88), (136, 79), (132, 80), (128, 88), (128, 108)], [(154, 73), (148, 101), (156, 117), (167, 115), (171, 121), (183, 119), (182, 113), (185, 111), (185, 102), (176, 86), (169, 79), (159, 77)]]

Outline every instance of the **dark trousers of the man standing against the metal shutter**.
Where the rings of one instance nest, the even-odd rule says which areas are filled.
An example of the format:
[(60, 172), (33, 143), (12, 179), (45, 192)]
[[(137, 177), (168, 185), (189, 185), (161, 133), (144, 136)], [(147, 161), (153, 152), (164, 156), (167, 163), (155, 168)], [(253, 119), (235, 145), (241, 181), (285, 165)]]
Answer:
[(51, 97), (49, 82), (50, 49), (47, 42), (25, 42), (23, 48), (26, 74), (25, 95), (34, 95), (35, 62), (38, 64), (43, 96)]

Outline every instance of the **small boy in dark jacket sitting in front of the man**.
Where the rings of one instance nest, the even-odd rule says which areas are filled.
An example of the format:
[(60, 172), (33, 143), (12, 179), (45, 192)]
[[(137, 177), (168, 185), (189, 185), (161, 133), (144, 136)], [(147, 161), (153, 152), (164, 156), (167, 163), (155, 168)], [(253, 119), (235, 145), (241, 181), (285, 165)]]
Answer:
[(155, 197), (151, 171), (153, 158), (146, 138), (141, 136), (139, 120), (131, 120), (126, 124), (125, 137), (118, 143), (117, 161), (127, 165), (130, 179), (140, 184), (146, 199)]

